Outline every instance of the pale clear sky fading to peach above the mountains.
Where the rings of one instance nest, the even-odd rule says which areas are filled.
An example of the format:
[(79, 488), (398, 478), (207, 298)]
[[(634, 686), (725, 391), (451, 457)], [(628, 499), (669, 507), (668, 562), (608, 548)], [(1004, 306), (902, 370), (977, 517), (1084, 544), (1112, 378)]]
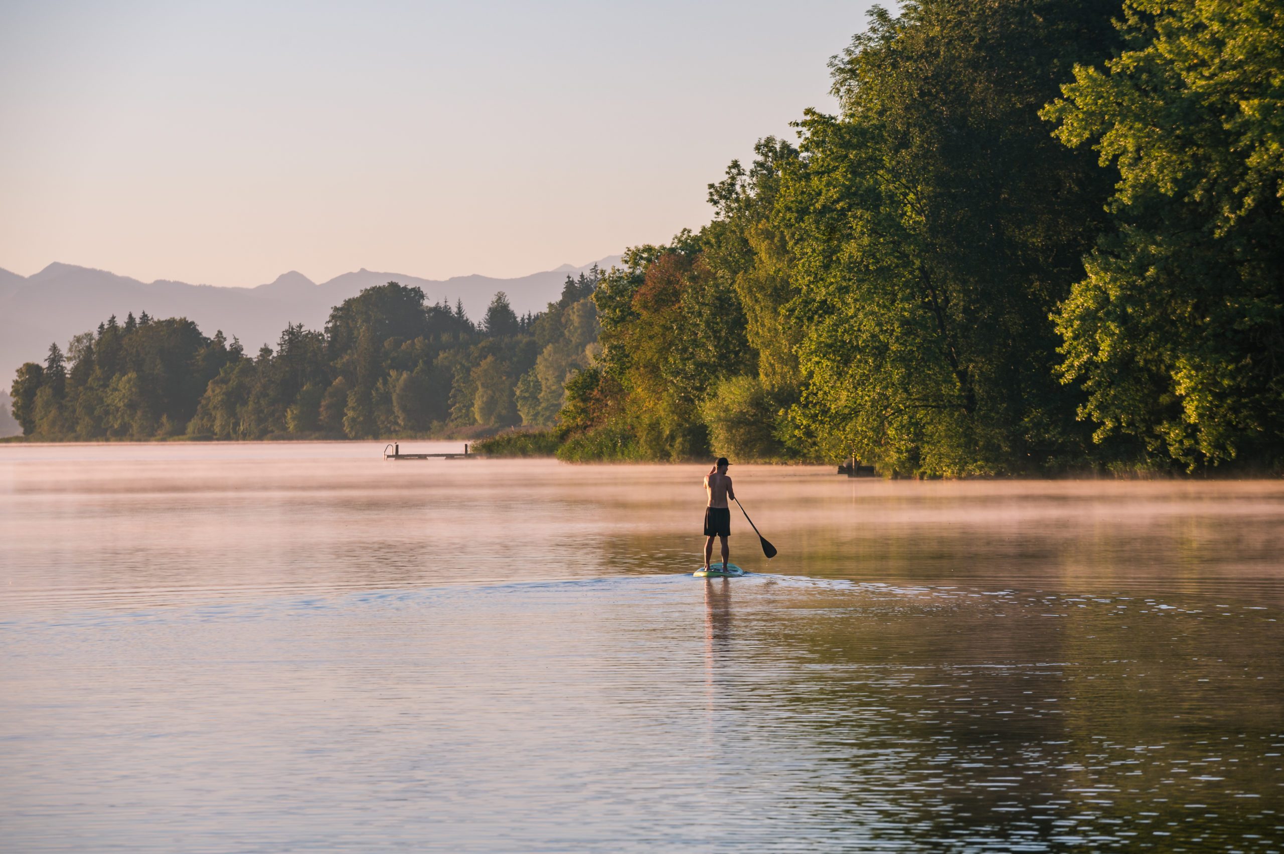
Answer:
[(0, 267), (519, 276), (668, 241), (835, 109), (869, 5), (0, 0)]

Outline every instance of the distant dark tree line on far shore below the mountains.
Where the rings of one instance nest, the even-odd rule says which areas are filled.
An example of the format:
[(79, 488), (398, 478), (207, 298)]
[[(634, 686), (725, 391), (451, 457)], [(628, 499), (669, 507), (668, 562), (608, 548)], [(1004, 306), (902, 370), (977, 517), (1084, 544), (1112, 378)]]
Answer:
[(14, 379), (35, 439), (374, 438), (550, 426), (570, 372), (594, 358), (594, 267), (519, 317), (496, 294), (480, 324), (419, 288), (367, 288), (324, 331), (289, 325), (276, 348), (202, 334), (190, 320), (114, 316)]

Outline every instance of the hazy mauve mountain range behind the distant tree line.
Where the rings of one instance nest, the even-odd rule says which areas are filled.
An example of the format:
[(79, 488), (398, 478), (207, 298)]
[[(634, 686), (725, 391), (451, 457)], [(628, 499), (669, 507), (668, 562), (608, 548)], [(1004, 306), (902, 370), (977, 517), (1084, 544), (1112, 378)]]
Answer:
[[(619, 256), (597, 261), (609, 268)], [(276, 344), (286, 324), (322, 329), (330, 308), (363, 288), (399, 281), (424, 289), (429, 302), (464, 302), (469, 317), (480, 320), (497, 290), (508, 294), (512, 308), (524, 315), (538, 312), (561, 295), (566, 276), (592, 265), (535, 272), (520, 279), (456, 276), (444, 281), (420, 279), (399, 272), (358, 270), (321, 284), (300, 272), (281, 274), (275, 281), (257, 288), (216, 288), (158, 280), (141, 283), (105, 270), (51, 263), (32, 276), (0, 270), (0, 385), (8, 389), (13, 372), (23, 362), (44, 361), (49, 344), (59, 347), (78, 333), (96, 329), (110, 315), (148, 312), (153, 317), (186, 317), (213, 335), (221, 329), (227, 338), (236, 335), (248, 353), (262, 344)]]

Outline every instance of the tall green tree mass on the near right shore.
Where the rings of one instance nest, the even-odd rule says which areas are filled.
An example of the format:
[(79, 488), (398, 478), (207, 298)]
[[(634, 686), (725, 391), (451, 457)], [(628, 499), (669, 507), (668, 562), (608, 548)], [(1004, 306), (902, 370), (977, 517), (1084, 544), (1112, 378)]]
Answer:
[(566, 458), (1274, 467), (1284, 5), (918, 0), (625, 256)]

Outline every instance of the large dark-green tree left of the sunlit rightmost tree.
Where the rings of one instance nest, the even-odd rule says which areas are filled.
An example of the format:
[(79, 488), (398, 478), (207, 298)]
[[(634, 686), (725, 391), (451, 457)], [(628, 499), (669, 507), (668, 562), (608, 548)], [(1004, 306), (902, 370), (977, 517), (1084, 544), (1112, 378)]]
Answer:
[(808, 113), (778, 223), (805, 329), (800, 431), (883, 470), (998, 474), (1081, 453), (1049, 312), (1082, 275), (1109, 179), (1039, 119), (1108, 55), (1106, 0), (876, 9)]

